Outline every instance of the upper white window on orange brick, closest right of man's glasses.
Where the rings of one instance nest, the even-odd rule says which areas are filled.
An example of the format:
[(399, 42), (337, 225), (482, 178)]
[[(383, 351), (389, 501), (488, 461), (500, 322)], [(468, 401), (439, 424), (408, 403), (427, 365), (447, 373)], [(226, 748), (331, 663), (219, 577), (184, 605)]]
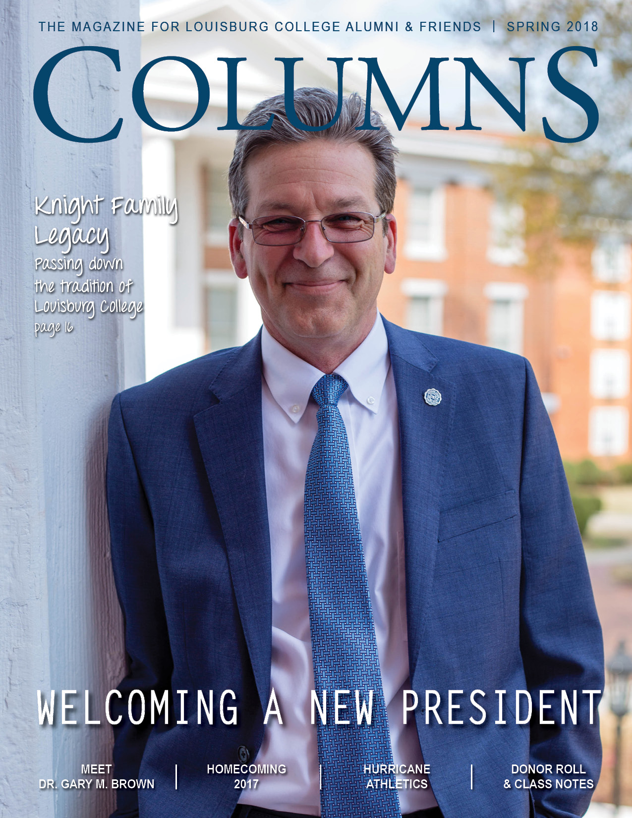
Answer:
[(443, 187), (413, 187), (410, 191), (404, 255), (425, 261), (448, 258)]

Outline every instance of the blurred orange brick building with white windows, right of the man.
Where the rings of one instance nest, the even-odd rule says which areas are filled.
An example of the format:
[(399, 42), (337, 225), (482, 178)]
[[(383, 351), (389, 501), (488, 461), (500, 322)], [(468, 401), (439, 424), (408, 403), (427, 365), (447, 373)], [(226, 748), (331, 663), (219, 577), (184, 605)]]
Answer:
[(405, 174), (397, 274), (381, 311), (410, 329), (525, 355), (562, 456), (630, 460), (630, 243), (603, 222), (599, 240), (560, 244), (552, 272), (529, 274), (520, 215), (476, 180), (444, 173), (428, 187)]

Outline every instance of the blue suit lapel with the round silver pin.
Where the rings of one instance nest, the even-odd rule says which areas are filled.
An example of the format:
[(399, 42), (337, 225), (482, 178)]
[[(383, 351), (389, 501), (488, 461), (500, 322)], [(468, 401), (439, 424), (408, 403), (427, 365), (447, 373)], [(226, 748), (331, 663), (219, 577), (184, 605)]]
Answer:
[[(400, 416), (410, 676), (416, 670), (435, 569), (439, 503), (454, 416), (454, 385), (432, 371), (437, 360), (418, 335), (384, 321)], [(438, 406), (424, 399), (441, 394)]]

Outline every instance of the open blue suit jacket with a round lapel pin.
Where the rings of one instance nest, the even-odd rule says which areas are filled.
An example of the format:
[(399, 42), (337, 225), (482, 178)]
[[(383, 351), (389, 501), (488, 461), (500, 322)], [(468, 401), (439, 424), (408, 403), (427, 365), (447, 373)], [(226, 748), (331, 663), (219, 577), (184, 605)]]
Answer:
[[(601, 631), (535, 378), (516, 355), (385, 325), (400, 414), (410, 675), (436, 799), (445, 818), (526, 818), (534, 799), (537, 815), (580, 816), (590, 789), (503, 785), (522, 777), (511, 771), (521, 763), (581, 765), (579, 777), (596, 783), (601, 755), (581, 694), (603, 689)], [(439, 406), (424, 402), (429, 388)], [(270, 687), (259, 338), (115, 398), (108, 503), (129, 654), (115, 777), (155, 784), (138, 801), (121, 790), (115, 815), (140, 807), (147, 818), (228, 818), (244, 776), (207, 765), (239, 763), (246, 750), (255, 758)], [(152, 689), (172, 691), (167, 726), (149, 723)], [(481, 726), (469, 721), (480, 717), (469, 705), (476, 689), (486, 694)], [(131, 690), (147, 700), (139, 726), (127, 717)], [(178, 690), (189, 691), (187, 725), (174, 724)], [(214, 690), (213, 726), (196, 724), (197, 690)], [(223, 690), (237, 698), (236, 726), (219, 719)], [(426, 724), (426, 690), (440, 693), (443, 725), (432, 714)], [(464, 691), (461, 726), (447, 724), (448, 690)], [(507, 691), (502, 726), (496, 690)], [(530, 726), (515, 723), (515, 690), (533, 697)], [(556, 726), (539, 726), (539, 690), (555, 690), (544, 717)], [(578, 691), (576, 726), (560, 725), (561, 690), (571, 700)]]

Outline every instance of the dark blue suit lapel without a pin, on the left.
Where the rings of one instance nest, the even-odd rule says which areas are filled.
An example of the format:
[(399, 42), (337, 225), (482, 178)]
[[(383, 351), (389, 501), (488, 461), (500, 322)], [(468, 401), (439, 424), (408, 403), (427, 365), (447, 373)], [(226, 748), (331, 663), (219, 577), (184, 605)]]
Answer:
[(222, 525), (246, 645), (265, 711), (270, 686), (272, 580), (259, 335), (236, 350), (210, 389), (218, 402), (195, 416), (196, 434)]

